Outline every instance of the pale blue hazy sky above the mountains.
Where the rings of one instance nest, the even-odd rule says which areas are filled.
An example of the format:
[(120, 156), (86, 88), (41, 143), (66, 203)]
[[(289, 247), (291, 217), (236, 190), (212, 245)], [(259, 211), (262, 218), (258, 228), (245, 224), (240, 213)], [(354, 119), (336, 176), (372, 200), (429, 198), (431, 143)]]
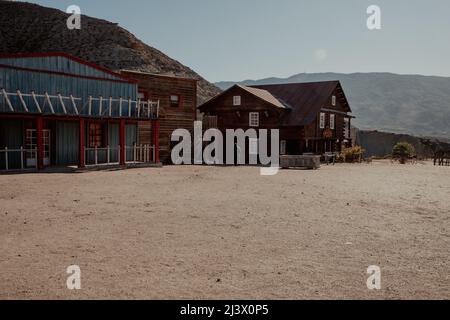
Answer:
[[(210, 81), (300, 72), (450, 76), (449, 0), (38, 0), (119, 23)], [(369, 31), (367, 7), (381, 7)]]

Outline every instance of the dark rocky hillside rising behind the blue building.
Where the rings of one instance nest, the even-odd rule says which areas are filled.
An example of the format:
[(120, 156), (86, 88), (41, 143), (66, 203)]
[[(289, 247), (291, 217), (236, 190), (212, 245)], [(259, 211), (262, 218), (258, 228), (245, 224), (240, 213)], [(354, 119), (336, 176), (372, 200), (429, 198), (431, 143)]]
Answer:
[(65, 52), (112, 69), (130, 69), (199, 80), (199, 103), (220, 90), (190, 68), (148, 46), (115, 23), (82, 16), (69, 30), (68, 14), (35, 4), (0, 1), (0, 54)]

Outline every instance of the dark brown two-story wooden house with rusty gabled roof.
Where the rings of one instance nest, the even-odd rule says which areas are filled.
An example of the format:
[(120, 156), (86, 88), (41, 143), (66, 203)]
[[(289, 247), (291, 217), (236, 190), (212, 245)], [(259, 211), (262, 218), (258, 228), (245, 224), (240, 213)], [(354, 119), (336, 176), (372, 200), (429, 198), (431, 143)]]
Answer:
[(204, 129), (279, 129), (281, 154), (323, 154), (352, 144), (351, 108), (339, 81), (235, 85), (199, 109)]

